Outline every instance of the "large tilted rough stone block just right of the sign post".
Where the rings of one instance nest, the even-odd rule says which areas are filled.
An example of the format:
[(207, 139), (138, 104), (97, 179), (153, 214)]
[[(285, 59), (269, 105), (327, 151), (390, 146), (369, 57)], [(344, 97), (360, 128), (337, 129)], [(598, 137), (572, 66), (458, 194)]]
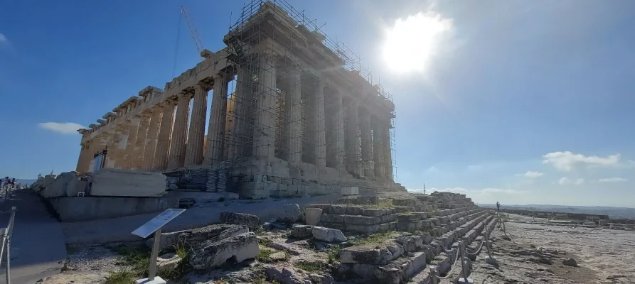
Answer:
[(204, 270), (223, 266), (230, 258), (241, 262), (259, 253), (258, 239), (249, 232), (220, 241), (206, 241), (190, 253), (188, 262), (194, 269)]

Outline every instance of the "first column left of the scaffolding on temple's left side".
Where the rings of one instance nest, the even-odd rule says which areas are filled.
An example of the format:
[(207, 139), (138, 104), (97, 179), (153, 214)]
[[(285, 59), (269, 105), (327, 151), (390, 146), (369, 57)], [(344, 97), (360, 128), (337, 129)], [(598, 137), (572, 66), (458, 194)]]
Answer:
[(223, 160), (225, 151), (225, 122), (227, 121), (227, 92), (229, 79), (227, 75), (214, 75), (214, 91), (212, 93), (212, 109), (207, 131), (207, 149), (203, 163), (212, 164)]

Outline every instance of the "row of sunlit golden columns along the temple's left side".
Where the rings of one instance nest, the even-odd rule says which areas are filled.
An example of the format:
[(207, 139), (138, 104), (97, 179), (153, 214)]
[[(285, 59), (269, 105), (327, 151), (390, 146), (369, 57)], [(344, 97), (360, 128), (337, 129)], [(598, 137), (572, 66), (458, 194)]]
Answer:
[(212, 163), (213, 159), (222, 158), (223, 151), (219, 149), (223, 148), (225, 133), (228, 79), (215, 75), (213, 80), (208, 141), (203, 140), (211, 87), (201, 83), (115, 126), (110, 132), (84, 141), (77, 170), (92, 170), (89, 165), (94, 153), (105, 148), (108, 150), (106, 168), (166, 170), (201, 165), (203, 161)]

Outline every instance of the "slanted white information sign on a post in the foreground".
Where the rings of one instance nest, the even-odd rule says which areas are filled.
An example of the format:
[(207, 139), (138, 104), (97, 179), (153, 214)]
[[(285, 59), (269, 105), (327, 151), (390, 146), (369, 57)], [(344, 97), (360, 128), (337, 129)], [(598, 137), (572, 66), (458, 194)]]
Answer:
[(166, 209), (161, 214), (156, 215), (150, 221), (146, 222), (139, 228), (132, 231), (132, 234), (146, 238), (150, 234), (154, 233), (154, 246), (152, 246), (152, 253), (150, 258), (150, 267), (148, 278), (143, 278), (134, 281), (135, 284), (166, 284), (166, 280), (156, 275), (156, 258), (159, 257), (159, 244), (161, 243), (161, 227), (168, 224), (178, 215), (183, 213), (185, 209)]

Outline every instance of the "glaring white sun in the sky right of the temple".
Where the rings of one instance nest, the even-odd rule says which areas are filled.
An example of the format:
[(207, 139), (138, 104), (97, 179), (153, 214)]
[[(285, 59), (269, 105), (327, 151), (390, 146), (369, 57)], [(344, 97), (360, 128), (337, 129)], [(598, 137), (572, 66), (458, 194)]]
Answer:
[(395, 21), (383, 46), (383, 58), (397, 72), (422, 71), (439, 48), (439, 38), (452, 30), (452, 19), (417, 13)]

